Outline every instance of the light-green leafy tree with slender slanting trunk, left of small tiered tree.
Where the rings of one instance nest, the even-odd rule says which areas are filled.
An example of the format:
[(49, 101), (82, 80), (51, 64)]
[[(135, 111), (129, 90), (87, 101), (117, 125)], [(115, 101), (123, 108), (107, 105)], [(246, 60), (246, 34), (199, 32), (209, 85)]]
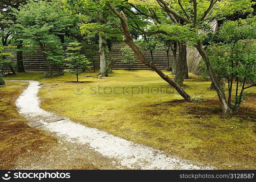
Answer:
[[(53, 77), (51, 63), (61, 62), (59, 55), (61, 52), (53, 51), (52, 47), (60, 45), (58, 35), (62, 35), (70, 23), (68, 16), (61, 9), (60, 1), (34, 2), (30, 0), (27, 4), (21, 5), (19, 11), (15, 10), (15, 15), (17, 24), (14, 24), (12, 29), (19, 35), (17, 40), (30, 46), (39, 44), (49, 67), (50, 77)], [(58, 50), (57, 47), (55, 48)]]

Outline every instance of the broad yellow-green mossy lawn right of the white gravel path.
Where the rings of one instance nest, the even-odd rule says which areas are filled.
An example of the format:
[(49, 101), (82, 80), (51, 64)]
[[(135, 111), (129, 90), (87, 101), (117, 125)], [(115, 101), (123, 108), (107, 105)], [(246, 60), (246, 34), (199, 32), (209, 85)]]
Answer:
[[(256, 88), (246, 91), (250, 96), (240, 111), (222, 114), (216, 92), (208, 89), (210, 82), (195, 75), (184, 80), (184, 90), (205, 102), (184, 102), (153, 71), (114, 72), (105, 79), (85, 77), (93, 75), (86, 72), (80, 83), (69, 74), (41, 79), (42, 72), (4, 79), (46, 83), (39, 91), (41, 107), (88, 127), (220, 169), (256, 169)], [(102, 94), (114, 88), (116, 94)]]

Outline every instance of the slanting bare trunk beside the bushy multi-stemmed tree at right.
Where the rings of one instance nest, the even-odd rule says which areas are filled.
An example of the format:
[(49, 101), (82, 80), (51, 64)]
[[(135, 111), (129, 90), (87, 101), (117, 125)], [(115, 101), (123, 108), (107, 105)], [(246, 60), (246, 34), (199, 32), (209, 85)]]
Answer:
[(205, 61), (207, 72), (208, 72), (208, 74), (211, 78), (211, 81), (213, 82), (214, 88), (215, 88), (215, 90), (217, 92), (217, 95), (219, 97), (219, 101), (221, 102), (222, 112), (223, 113), (232, 112), (232, 110), (230, 109), (230, 107), (228, 105), (228, 102), (226, 100), (225, 92), (224, 92), (221, 84), (219, 84), (219, 82), (218, 82), (218, 79), (217, 79), (217, 77), (216, 77), (216, 75), (213, 71), (213, 68), (211, 67), (208, 56), (207, 56), (205, 50), (203, 49), (202, 42), (200, 40), (197, 42), (196, 49), (198, 50), (198, 52), (202, 56), (203, 60)]

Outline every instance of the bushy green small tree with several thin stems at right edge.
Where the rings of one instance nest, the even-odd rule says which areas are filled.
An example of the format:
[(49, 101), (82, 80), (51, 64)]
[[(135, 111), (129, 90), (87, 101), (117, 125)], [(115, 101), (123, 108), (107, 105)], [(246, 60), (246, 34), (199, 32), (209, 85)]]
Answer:
[[(233, 111), (237, 111), (245, 99), (244, 91), (256, 86), (256, 27), (254, 23), (255, 19), (225, 22), (217, 34), (221, 42), (207, 48), (209, 60), (219, 80), (228, 81), (228, 104)], [(202, 75), (209, 76), (205, 64), (201, 63), (201, 66)], [(252, 84), (246, 86), (248, 80)], [(235, 85), (233, 85), (234, 82)], [(235, 87), (235, 95), (232, 100), (233, 87)]]

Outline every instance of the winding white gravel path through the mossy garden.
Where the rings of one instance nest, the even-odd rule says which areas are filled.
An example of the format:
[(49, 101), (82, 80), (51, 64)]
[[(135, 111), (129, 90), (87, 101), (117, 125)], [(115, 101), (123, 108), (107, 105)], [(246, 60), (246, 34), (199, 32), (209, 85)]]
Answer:
[(189, 161), (166, 155), (160, 150), (115, 137), (97, 128), (74, 123), (68, 118), (47, 123), (46, 120), (59, 116), (39, 107), (40, 101), (37, 96), (40, 88), (39, 82), (26, 82), (29, 85), (17, 99), (16, 106), (19, 113), (27, 120), (43, 123), (44, 125), (39, 127), (43, 130), (54, 132), (57, 136), (72, 143), (88, 144), (103, 156), (113, 158), (122, 166), (130, 169), (213, 169), (202, 165), (192, 165)]

